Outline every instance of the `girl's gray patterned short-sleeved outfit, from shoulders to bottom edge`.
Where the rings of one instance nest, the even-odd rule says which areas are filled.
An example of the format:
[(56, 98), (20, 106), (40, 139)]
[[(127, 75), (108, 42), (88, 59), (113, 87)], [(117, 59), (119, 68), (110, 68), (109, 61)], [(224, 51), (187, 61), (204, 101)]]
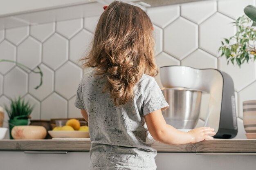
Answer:
[(116, 107), (110, 94), (102, 93), (106, 77), (94, 73), (83, 76), (75, 101), (88, 113), (90, 170), (156, 170), (157, 150), (151, 147), (154, 139), (144, 115), (168, 104), (155, 79), (144, 74), (134, 87), (134, 99)]

